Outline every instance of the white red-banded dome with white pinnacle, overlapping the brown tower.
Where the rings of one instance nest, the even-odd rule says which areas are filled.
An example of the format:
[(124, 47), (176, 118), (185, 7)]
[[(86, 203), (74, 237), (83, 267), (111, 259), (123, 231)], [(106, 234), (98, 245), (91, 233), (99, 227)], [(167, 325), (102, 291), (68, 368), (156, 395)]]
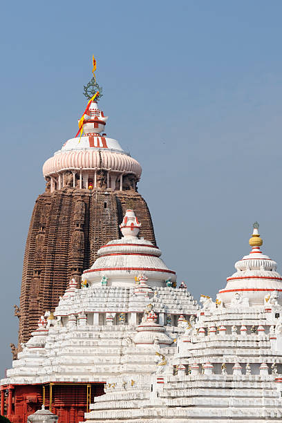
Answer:
[(82, 281), (100, 284), (106, 274), (109, 286), (128, 286), (134, 284), (134, 276), (146, 272), (149, 285), (165, 286), (166, 281), (176, 283), (176, 273), (169, 270), (160, 255), (162, 252), (150, 241), (138, 238), (141, 224), (133, 210), (126, 210), (120, 225), (121, 239), (109, 241), (97, 252), (97, 260), (89, 270), (84, 270)]

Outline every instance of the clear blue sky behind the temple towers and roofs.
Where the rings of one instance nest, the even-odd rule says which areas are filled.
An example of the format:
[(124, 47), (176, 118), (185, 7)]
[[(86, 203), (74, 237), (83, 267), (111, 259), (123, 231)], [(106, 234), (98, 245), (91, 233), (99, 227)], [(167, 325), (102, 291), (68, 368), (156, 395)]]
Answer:
[(139, 191), (178, 281), (215, 296), (254, 220), (281, 265), (281, 16), (274, 0), (2, 4), (2, 368), (41, 167), (77, 132), (93, 53), (106, 132), (142, 164)]

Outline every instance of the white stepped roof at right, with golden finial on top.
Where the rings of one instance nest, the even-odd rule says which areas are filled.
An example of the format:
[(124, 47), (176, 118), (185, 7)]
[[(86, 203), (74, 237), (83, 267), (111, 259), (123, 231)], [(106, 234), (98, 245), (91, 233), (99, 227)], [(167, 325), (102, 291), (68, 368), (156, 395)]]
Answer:
[[(258, 250), (262, 241), (254, 229), (255, 250), (236, 269), (275, 272), (276, 263)], [(264, 297), (243, 290), (241, 283), (232, 297), (222, 290), (215, 302), (202, 295), (196, 319), (182, 321), (185, 332), (173, 357), (160, 350), (162, 370), (148, 379), (149, 395), (142, 381), (134, 388), (117, 383), (91, 404), (86, 422), (281, 422), (282, 306), (273, 283), (276, 273), (264, 280), (259, 291)]]

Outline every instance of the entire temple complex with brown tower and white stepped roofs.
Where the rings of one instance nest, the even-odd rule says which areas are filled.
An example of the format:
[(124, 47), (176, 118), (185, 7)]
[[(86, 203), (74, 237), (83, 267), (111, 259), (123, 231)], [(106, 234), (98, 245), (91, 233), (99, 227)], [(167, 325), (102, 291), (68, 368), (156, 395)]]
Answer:
[(91, 79), (84, 91), (77, 136), (43, 167), (1, 415), (281, 422), (282, 277), (261, 251), (259, 224), (215, 301), (202, 294), (198, 303), (162, 261), (136, 188), (140, 164), (103, 132), (102, 89)]

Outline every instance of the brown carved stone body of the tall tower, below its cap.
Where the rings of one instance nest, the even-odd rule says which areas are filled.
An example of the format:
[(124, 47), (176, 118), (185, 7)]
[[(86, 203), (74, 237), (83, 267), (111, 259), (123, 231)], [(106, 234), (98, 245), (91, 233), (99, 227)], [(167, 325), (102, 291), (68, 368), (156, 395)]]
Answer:
[[(105, 182), (106, 173), (97, 173), (97, 185)], [(142, 220), (140, 237), (156, 245), (147, 203), (130, 189), (104, 194), (64, 187), (37, 198), (23, 260), (19, 343), (29, 339), (41, 314), (55, 310), (70, 278), (79, 283), (80, 274), (97, 259), (97, 250), (121, 236), (119, 225), (129, 204)]]

